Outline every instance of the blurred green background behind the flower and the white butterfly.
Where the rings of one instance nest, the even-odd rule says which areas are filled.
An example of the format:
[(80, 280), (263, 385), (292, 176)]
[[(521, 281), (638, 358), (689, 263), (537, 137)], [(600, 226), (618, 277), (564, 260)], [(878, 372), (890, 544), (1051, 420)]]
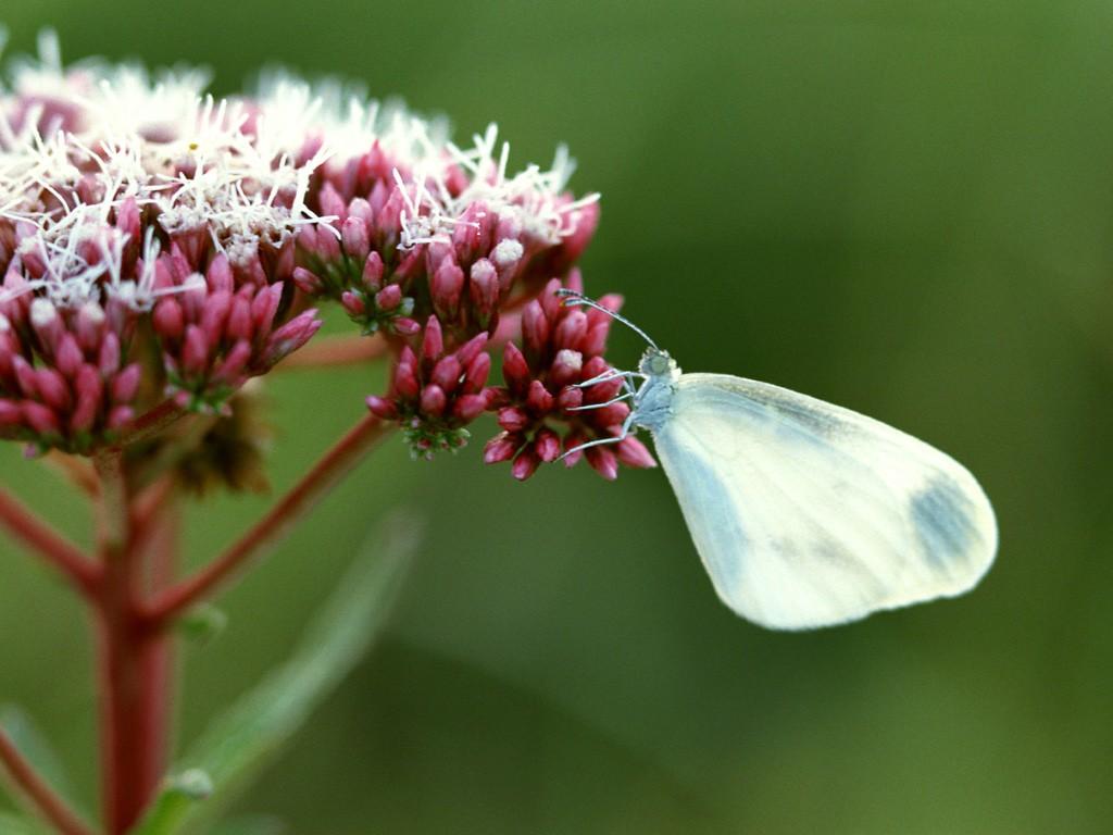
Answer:
[[(380, 450), (186, 651), (183, 739), (282, 659), (376, 519), (430, 540), (385, 639), (238, 804), (290, 832), (1113, 831), (1113, 9), (1096, 0), (7, 0), (12, 51), (341, 73), (559, 141), (603, 194), (588, 287), (689, 370), (942, 446), (1002, 529), (972, 595), (802, 635), (721, 607), (660, 472), (522, 485)], [(640, 346), (618, 334), (612, 356)], [(380, 371), (276, 375), (276, 489)], [(493, 424), (480, 435), (494, 432)], [(18, 450), (18, 489), (88, 520)], [(267, 499), (193, 515), (194, 560)], [(0, 543), (0, 700), (93, 803), (86, 623)]]

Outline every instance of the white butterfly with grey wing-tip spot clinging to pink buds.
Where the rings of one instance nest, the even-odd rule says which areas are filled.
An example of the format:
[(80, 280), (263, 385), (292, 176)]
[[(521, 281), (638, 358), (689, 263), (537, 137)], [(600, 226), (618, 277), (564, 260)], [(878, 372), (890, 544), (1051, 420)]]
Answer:
[(637, 372), (581, 384), (621, 377), (617, 400), (632, 401), (620, 436), (602, 442), (634, 425), (652, 433), (711, 582), (738, 615), (771, 629), (830, 626), (961, 595), (989, 569), (993, 508), (949, 455), (787, 389), (682, 374), (607, 313), (651, 347)]

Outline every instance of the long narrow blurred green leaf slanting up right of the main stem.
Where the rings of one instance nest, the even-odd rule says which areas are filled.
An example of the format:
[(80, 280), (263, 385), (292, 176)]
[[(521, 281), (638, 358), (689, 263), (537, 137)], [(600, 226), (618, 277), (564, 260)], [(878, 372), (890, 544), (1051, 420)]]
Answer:
[(184, 764), (208, 774), (215, 788), (208, 800), (183, 814), (183, 829), (203, 832), (356, 666), (386, 622), (418, 534), (411, 517), (384, 521), (290, 658), (209, 726)]

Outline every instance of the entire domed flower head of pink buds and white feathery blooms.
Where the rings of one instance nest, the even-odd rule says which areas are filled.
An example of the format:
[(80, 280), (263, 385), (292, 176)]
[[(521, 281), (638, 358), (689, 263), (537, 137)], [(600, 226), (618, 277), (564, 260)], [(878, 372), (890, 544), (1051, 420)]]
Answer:
[[(338, 85), (218, 100), (197, 71), (65, 68), (50, 36), (40, 52), (0, 87), (3, 435), (88, 452), (161, 399), (227, 414), (329, 302), (384, 341), (368, 406), (415, 454), (494, 410), (486, 458), (525, 478), (621, 423), (624, 404), (575, 411), (614, 384), (574, 386), (607, 367), (607, 316), (552, 295), (599, 219), (563, 149), (512, 173), (493, 125), (459, 147)], [(632, 439), (587, 458), (608, 478), (651, 463)]]

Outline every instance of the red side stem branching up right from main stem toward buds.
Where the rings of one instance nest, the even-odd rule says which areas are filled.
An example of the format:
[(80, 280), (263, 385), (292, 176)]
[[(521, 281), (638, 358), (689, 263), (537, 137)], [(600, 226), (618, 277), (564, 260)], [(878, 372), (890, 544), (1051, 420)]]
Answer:
[(243, 568), (248, 559), (279, 540), (392, 428), (373, 415), (359, 421), (227, 551), (188, 580), (157, 595), (147, 607), (146, 617), (151, 625), (162, 627), (200, 602)]

